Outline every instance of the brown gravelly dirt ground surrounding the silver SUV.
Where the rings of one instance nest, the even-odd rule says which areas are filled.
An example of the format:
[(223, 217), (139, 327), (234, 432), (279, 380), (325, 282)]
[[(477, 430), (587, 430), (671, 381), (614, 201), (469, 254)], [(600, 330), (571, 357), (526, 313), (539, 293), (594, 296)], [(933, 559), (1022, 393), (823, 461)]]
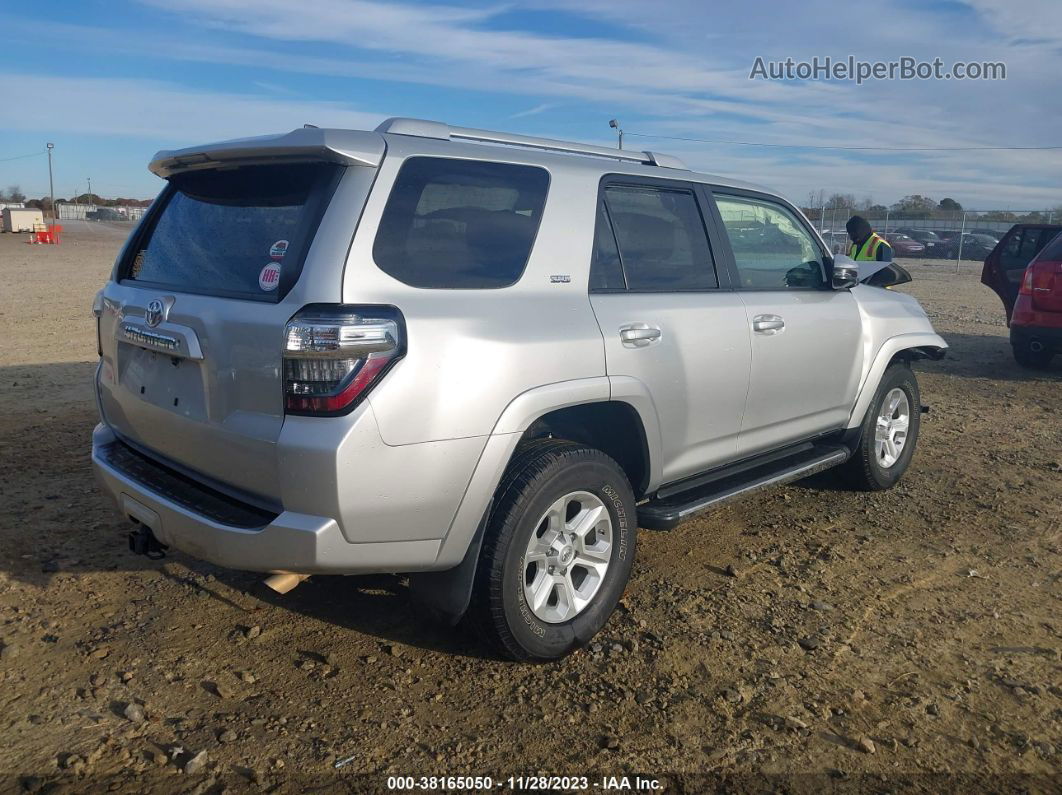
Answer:
[(1062, 361), (1013, 363), (977, 263), (905, 263), (953, 347), (918, 367), (898, 487), (827, 473), (643, 531), (597, 642), (518, 666), (398, 577), (278, 597), (126, 551), (89, 469), (89, 309), (125, 234), (0, 236), (0, 790), (1062, 789)]

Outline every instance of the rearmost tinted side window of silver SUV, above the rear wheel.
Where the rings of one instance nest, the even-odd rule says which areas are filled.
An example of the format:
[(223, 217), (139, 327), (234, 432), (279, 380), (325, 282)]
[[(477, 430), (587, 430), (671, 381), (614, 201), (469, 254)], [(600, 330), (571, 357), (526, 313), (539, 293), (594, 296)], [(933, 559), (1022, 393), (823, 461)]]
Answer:
[(383, 209), (376, 264), (411, 287), (509, 287), (527, 265), (548, 186), (534, 166), (411, 157)]

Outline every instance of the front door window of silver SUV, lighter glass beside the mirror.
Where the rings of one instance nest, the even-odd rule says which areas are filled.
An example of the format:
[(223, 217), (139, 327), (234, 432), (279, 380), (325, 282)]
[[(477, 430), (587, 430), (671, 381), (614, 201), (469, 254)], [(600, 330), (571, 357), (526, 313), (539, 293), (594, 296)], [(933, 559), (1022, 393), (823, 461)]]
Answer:
[(739, 284), (750, 290), (821, 288), (822, 249), (782, 205), (716, 194)]

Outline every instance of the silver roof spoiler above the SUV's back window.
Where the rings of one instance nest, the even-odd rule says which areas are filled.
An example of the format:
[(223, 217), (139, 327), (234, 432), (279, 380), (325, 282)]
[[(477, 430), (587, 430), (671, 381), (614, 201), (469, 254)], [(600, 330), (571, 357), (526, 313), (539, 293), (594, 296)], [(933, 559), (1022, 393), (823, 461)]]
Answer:
[(383, 159), (384, 149), (383, 136), (378, 133), (303, 127), (279, 135), (164, 150), (152, 158), (148, 168), (153, 174), (168, 179), (183, 171), (209, 169), (227, 162), (325, 160), (376, 167)]

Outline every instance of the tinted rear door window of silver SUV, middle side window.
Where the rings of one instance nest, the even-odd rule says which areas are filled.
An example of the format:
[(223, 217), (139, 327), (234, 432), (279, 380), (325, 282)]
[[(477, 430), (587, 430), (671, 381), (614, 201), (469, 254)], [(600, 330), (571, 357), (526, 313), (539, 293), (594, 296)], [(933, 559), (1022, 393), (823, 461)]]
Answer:
[(604, 194), (628, 290), (678, 292), (719, 287), (692, 191), (610, 186)]

